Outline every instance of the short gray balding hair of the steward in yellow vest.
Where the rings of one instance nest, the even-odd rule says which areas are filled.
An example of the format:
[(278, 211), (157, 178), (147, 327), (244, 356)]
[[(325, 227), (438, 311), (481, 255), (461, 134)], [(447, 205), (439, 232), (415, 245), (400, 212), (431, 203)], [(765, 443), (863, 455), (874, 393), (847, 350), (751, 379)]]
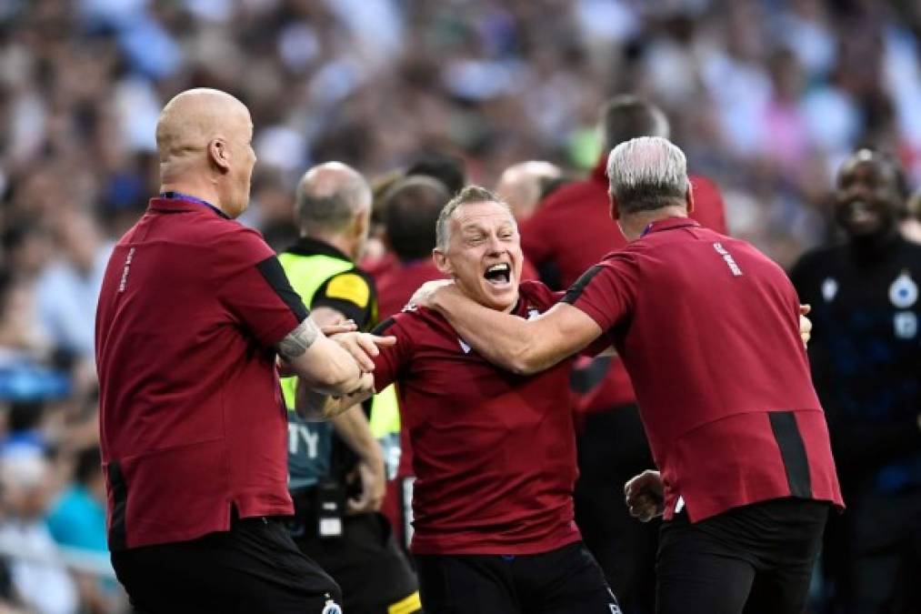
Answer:
[(341, 162), (315, 166), (297, 183), (294, 212), (304, 232), (345, 230), (356, 212), (371, 207), (371, 188)]

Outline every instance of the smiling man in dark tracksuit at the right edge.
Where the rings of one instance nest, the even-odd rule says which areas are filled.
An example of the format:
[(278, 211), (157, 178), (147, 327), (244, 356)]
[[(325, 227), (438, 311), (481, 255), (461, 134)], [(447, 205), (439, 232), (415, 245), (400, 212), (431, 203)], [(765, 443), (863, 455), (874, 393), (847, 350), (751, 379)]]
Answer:
[(790, 274), (812, 306), (812, 377), (849, 508), (830, 523), (824, 556), (834, 611), (846, 614), (880, 612), (921, 517), (921, 245), (899, 233), (907, 196), (895, 159), (858, 150), (834, 194), (845, 242)]

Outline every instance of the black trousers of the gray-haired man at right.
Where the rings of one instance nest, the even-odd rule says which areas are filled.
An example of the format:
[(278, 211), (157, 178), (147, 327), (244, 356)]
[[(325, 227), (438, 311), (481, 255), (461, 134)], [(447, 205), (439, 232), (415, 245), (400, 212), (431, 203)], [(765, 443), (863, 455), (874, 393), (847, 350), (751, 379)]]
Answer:
[(662, 523), (658, 614), (800, 614), (831, 506), (775, 499)]

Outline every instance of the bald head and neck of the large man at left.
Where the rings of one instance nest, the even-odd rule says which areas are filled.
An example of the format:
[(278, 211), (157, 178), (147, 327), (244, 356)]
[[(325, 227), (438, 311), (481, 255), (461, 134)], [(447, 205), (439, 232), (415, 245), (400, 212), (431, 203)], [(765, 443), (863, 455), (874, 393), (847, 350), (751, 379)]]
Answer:
[(217, 89), (181, 92), (157, 120), (161, 189), (203, 198), (236, 218), (250, 201), (251, 141), (242, 102)]

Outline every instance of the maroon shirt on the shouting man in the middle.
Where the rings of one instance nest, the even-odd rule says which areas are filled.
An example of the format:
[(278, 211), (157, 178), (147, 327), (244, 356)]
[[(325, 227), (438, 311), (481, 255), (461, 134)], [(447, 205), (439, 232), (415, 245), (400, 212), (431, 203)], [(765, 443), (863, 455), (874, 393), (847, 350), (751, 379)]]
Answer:
[[(520, 317), (558, 298), (534, 281), (519, 293)], [(378, 389), (397, 383), (413, 445), (413, 551), (534, 554), (580, 539), (573, 360), (530, 377), (501, 371), (426, 308), (398, 313), (378, 330), (397, 337), (381, 348), (374, 380)]]

